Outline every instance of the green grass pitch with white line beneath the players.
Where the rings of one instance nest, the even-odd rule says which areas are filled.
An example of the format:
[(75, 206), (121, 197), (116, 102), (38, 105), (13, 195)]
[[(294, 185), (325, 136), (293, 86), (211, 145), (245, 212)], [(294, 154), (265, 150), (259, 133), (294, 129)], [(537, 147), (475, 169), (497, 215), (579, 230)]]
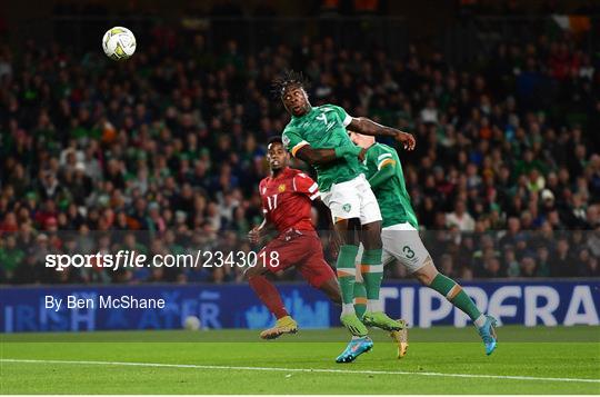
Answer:
[(4, 334), (0, 394), (600, 394), (600, 327), (507, 326), (488, 357), (472, 327), (387, 334), (336, 364), (342, 329)]

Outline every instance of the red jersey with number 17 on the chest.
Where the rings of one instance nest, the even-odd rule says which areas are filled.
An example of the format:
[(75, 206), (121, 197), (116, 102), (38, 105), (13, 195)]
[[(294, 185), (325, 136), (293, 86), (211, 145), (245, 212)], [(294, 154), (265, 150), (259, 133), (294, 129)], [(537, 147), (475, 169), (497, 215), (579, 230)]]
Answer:
[(310, 202), (319, 197), (319, 186), (308, 175), (288, 167), (277, 178), (262, 179), (259, 191), (262, 212), (279, 232), (291, 227), (314, 229), (310, 221)]

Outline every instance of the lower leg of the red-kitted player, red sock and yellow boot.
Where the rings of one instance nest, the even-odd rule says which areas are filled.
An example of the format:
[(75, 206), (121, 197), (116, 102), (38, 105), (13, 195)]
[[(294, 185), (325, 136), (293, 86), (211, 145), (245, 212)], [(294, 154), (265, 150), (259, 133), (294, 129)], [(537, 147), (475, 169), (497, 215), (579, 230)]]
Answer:
[(261, 266), (249, 267), (246, 270), (250, 287), (277, 318), (274, 327), (263, 330), (260, 337), (262, 339), (274, 339), (283, 334), (296, 334), (298, 333), (298, 324), (288, 314), (276, 286), (266, 277), (267, 272), (267, 268)]

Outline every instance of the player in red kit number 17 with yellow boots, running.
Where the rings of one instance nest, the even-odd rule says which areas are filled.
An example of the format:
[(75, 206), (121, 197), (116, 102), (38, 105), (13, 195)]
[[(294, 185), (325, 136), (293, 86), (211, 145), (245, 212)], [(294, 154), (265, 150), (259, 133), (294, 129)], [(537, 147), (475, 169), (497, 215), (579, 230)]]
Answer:
[(311, 201), (319, 196), (317, 182), (302, 171), (288, 167), (290, 157), (281, 138), (271, 138), (267, 149), (271, 176), (259, 185), (264, 221), (248, 237), (252, 242), (259, 242), (273, 228), (279, 235), (262, 248), (256, 266), (249, 267), (246, 276), (277, 318), (274, 327), (260, 334), (263, 339), (273, 339), (282, 334), (294, 334), (298, 324), (283, 307), (277, 288), (267, 279), (268, 272), (296, 266), (312, 287), (327, 294), (333, 302), (341, 304), (341, 297), (336, 275), (323, 258), (321, 240), (310, 220)]

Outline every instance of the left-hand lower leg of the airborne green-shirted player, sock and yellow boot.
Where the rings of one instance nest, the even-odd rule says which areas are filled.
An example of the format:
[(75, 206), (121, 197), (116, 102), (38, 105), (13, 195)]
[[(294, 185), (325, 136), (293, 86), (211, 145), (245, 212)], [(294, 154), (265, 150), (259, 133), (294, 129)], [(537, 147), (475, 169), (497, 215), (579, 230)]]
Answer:
[(356, 337), (363, 337), (369, 331), (354, 311), (354, 261), (358, 254), (358, 234), (360, 227), (359, 219), (337, 219), (334, 228), (340, 239), (340, 252), (336, 265), (338, 281), (340, 282), (342, 312), (341, 324)]

